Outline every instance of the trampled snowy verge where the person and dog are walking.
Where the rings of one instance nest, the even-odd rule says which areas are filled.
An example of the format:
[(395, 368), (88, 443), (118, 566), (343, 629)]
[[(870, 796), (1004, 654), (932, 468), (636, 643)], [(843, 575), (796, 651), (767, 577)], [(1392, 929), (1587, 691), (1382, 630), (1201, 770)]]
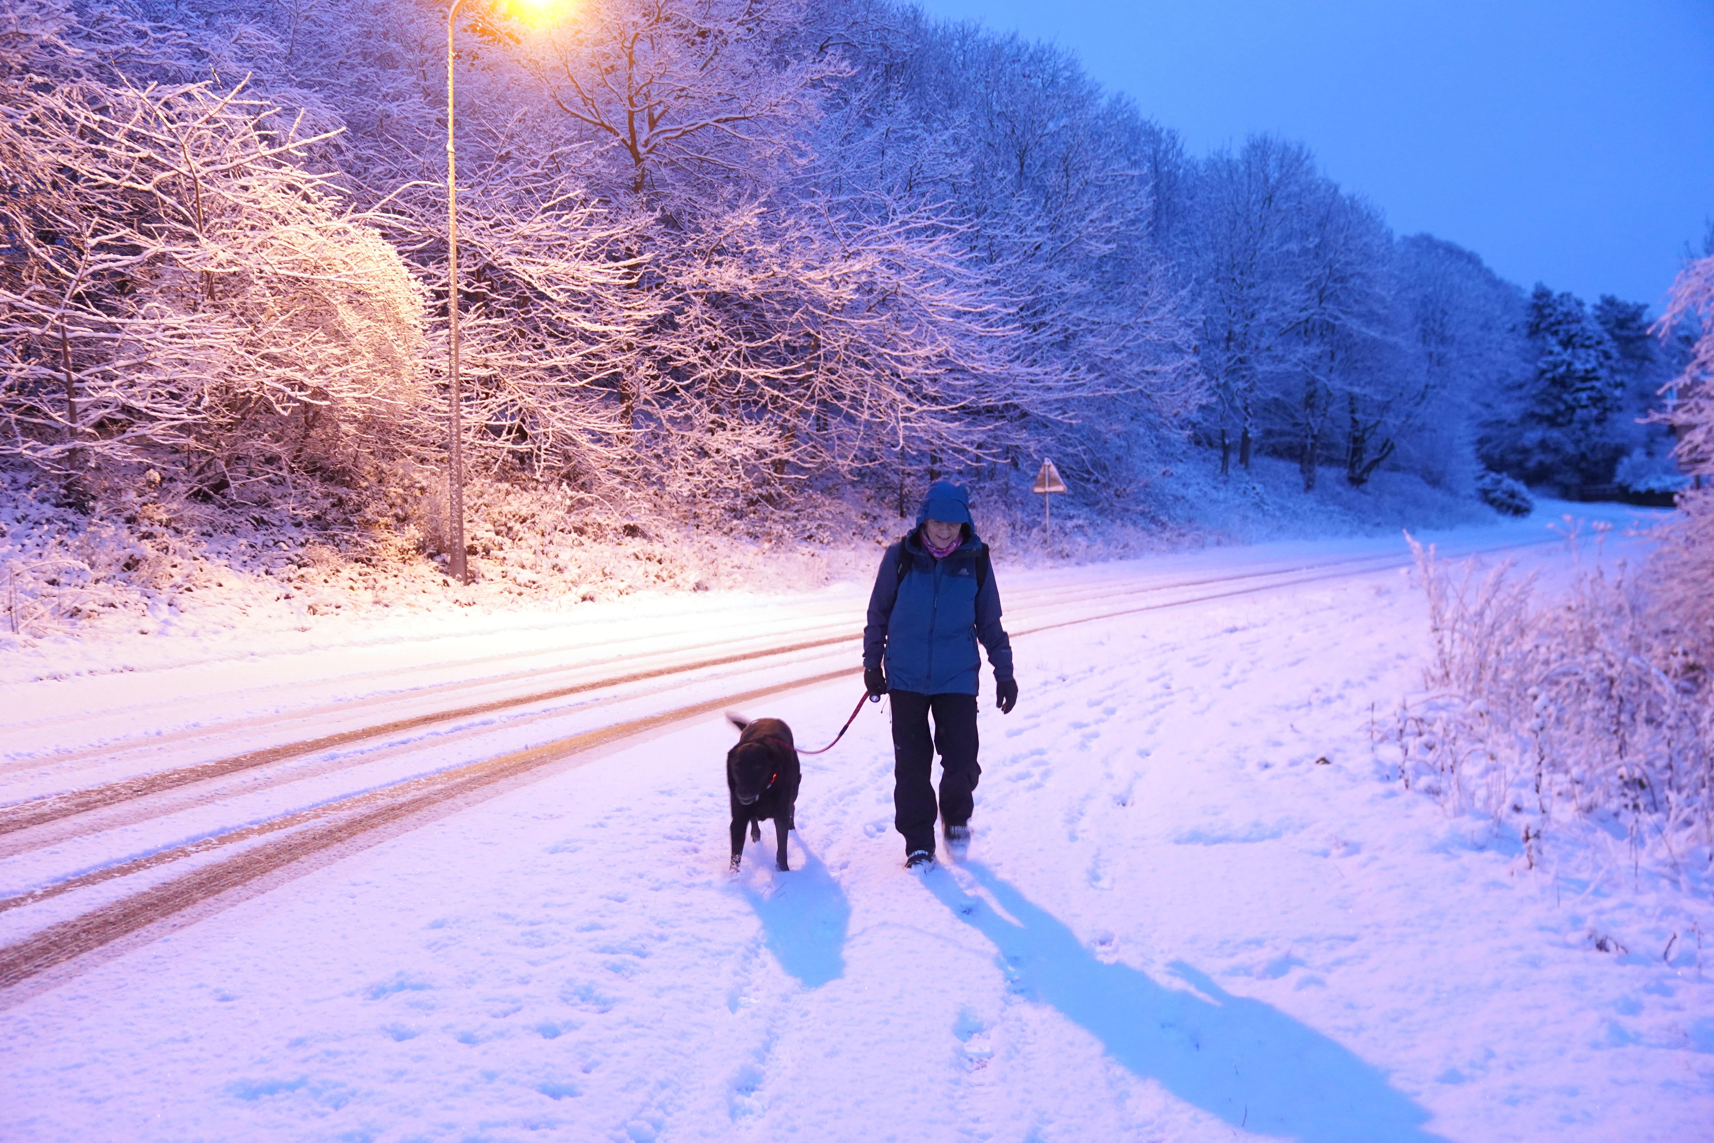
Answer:
[[(1383, 780), (1423, 643), (1399, 572), (1020, 639), (926, 879), (879, 715), (806, 759), (799, 869), (737, 883), (730, 735), (686, 727), (10, 1008), (0, 1134), (1699, 1138), (1681, 903), (1556, 903)], [(847, 691), (752, 713), (821, 740)]]

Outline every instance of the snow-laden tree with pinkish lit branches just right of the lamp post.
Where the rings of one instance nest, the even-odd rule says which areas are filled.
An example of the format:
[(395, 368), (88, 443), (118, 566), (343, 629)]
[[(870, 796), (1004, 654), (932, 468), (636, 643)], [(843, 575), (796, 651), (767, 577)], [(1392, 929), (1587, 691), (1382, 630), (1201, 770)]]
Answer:
[(530, 63), (636, 226), (636, 296), (662, 317), (617, 374), (619, 430), (675, 502), (740, 507), (907, 437), (986, 456), (991, 410), (1040, 377), (956, 219), (819, 163), (819, 96), (848, 67), (795, 43), (802, 19), (610, 3)]

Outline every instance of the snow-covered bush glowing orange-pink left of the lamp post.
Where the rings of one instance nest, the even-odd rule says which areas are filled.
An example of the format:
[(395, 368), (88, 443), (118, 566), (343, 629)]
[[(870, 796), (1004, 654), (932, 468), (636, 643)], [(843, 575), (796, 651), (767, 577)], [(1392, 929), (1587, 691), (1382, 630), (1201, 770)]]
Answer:
[(425, 298), (305, 168), (334, 130), (243, 84), (137, 86), (58, 19), (0, 65), (0, 456), (252, 502), (382, 454), (430, 401)]

